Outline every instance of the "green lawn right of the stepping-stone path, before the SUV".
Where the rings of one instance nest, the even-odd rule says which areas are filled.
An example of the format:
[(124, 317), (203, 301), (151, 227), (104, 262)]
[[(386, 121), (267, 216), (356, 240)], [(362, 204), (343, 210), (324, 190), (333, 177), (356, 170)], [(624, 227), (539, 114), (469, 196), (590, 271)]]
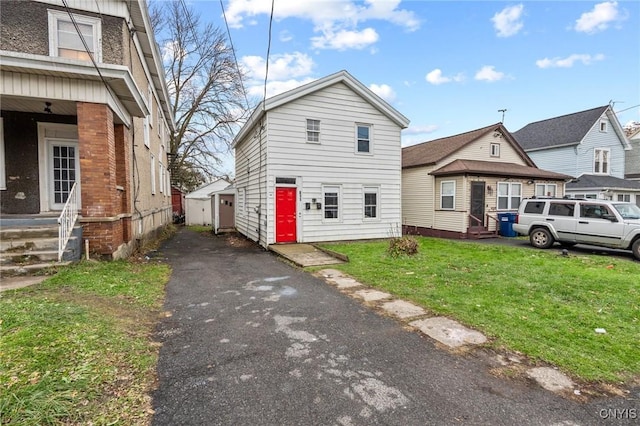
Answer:
[(387, 254), (387, 241), (326, 247), (349, 256), (337, 269), (478, 329), (495, 348), (587, 381), (640, 377), (639, 262), (435, 238), (418, 242), (417, 255), (397, 258)]

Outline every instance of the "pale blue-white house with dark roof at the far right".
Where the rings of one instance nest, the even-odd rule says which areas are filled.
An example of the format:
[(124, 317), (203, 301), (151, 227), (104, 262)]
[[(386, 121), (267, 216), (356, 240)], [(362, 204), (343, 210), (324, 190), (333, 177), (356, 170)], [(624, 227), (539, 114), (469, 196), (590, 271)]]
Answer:
[(568, 196), (640, 205), (640, 182), (625, 179), (632, 148), (610, 105), (530, 123), (512, 134), (538, 167), (575, 178), (565, 187)]

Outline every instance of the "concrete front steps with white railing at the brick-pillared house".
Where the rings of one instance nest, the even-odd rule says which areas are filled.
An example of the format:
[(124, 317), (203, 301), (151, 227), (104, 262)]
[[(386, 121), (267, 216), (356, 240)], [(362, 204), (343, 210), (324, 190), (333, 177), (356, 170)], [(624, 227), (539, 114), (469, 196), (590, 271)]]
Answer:
[(46, 274), (82, 256), (82, 227), (73, 229), (58, 262), (57, 217), (0, 218), (0, 276)]

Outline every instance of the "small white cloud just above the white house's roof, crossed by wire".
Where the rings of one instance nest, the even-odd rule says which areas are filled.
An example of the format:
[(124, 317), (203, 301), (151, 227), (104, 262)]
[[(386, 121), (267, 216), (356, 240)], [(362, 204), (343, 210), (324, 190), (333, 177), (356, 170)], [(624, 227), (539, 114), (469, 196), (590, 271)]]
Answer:
[[(265, 60), (261, 56), (244, 56), (241, 63), (252, 80), (264, 81)], [(306, 53), (272, 55), (269, 60), (269, 80), (287, 80), (311, 74), (315, 63)]]

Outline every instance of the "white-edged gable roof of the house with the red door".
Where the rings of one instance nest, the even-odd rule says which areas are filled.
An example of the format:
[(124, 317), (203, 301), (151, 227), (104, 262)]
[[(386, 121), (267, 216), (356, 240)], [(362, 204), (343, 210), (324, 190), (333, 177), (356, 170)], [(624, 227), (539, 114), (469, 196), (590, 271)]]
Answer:
[(381, 97), (373, 93), (364, 84), (356, 80), (355, 77), (353, 77), (347, 71), (342, 70), (323, 77), (319, 80), (312, 81), (311, 83), (296, 87), (295, 89), (289, 90), (279, 95), (272, 96), (264, 100), (263, 102), (260, 102), (260, 104), (258, 104), (256, 109), (253, 110), (253, 113), (251, 114), (247, 122), (244, 124), (244, 126), (242, 126), (242, 128), (234, 138), (232, 147), (235, 148), (236, 144), (246, 136), (246, 134), (253, 128), (253, 126), (269, 110), (277, 108), (296, 99), (300, 99), (304, 96), (307, 96), (311, 93), (317, 92), (318, 90), (322, 90), (337, 83), (344, 83), (347, 87), (364, 98), (365, 101), (369, 102), (374, 108), (376, 108), (382, 114), (386, 115), (391, 121), (396, 123), (400, 128), (404, 129), (409, 125), (409, 119), (407, 117), (398, 112)]

